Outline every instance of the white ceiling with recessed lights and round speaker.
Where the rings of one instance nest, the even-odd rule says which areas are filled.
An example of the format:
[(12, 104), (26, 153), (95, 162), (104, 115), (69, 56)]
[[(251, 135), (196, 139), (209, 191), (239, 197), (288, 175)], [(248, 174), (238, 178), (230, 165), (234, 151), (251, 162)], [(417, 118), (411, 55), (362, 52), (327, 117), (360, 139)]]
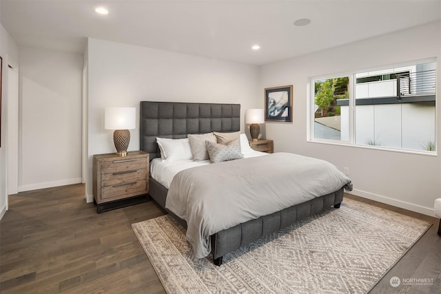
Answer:
[(263, 65), (439, 21), (441, 0), (0, 0), (0, 10), (17, 45), (83, 52), (92, 37)]

